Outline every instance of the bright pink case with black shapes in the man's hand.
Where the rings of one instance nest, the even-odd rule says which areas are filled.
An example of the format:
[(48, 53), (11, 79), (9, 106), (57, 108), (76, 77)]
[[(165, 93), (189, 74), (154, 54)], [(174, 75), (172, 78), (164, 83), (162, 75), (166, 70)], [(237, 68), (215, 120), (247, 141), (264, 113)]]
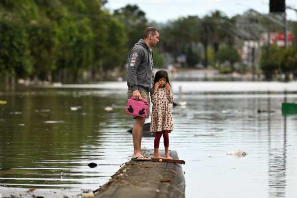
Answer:
[(142, 100), (143, 101), (135, 100), (133, 97), (131, 97), (128, 100), (126, 113), (134, 116), (146, 117), (148, 103), (145, 99)]

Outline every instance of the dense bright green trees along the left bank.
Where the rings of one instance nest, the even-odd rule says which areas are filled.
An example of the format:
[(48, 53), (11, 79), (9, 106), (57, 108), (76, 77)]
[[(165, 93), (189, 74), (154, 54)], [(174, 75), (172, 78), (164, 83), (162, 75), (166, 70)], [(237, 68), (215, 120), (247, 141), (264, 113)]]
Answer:
[(1, 73), (48, 80), (66, 71), (78, 80), (84, 70), (99, 73), (123, 66), (128, 51), (125, 29), (101, 10), (105, 3), (1, 1)]

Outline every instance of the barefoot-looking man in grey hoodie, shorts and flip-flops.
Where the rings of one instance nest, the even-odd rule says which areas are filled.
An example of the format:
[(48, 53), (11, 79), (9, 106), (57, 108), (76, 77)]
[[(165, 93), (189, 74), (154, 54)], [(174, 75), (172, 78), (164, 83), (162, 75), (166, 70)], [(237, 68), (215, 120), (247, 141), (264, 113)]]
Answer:
[[(128, 99), (134, 97), (136, 100), (144, 98), (148, 101), (150, 109), (149, 92), (153, 89), (154, 62), (151, 47), (156, 46), (159, 42), (160, 31), (155, 27), (148, 27), (144, 31), (143, 39), (140, 39), (129, 52), (127, 85)], [(151, 160), (144, 156), (141, 151), (142, 129), (146, 118), (149, 118), (149, 110), (146, 118), (132, 116), (135, 119), (132, 128), (134, 153), (132, 159)]]

